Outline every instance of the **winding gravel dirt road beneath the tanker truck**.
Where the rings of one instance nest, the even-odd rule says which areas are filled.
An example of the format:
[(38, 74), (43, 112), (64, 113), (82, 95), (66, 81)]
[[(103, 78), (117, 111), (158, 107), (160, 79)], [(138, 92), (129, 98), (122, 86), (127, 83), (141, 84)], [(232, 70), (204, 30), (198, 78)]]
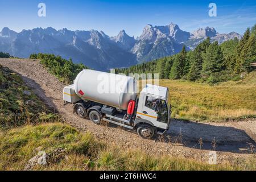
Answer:
[[(140, 148), (147, 154), (183, 156), (207, 162), (208, 150), (212, 150), (212, 142), (215, 139), (218, 162), (251, 156), (250, 150), (247, 150), (247, 143), (255, 144), (255, 119), (225, 123), (198, 123), (172, 119), (170, 130), (164, 138), (145, 140), (131, 131), (113, 125), (94, 125), (86, 119), (77, 117), (73, 114), (71, 104), (63, 105), (62, 92), (65, 85), (48, 73), (38, 60), (0, 59), (0, 64), (22, 75), (26, 84), (49, 107), (60, 113), (65, 122), (81, 131), (90, 131), (96, 138), (122, 147), (123, 150)], [(198, 144), (200, 138), (204, 143), (201, 146), (202, 150)]]

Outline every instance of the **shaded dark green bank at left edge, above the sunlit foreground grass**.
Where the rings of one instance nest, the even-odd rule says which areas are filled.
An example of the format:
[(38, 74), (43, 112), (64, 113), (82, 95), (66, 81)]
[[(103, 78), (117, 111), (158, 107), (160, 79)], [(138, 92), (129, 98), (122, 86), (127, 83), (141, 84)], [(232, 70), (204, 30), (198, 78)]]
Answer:
[[(23, 94), (24, 90), (31, 96)], [(28, 102), (32, 103), (28, 105)], [(21, 126), (26, 123), (56, 121), (46, 105), (24, 85), (22, 78), (0, 65), (0, 129)]]

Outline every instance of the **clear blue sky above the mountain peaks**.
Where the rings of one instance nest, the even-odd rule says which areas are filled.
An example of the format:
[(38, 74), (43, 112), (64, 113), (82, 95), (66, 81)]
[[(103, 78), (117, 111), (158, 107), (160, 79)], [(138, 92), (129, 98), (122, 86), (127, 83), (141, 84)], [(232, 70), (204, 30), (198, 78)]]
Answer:
[[(46, 17), (38, 16), (38, 4), (46, 3)], [(217, 17), (209, 17), (209, 3), (216, 3)], [(57, 30), (102, 30), (110, 36), (126, 30), (139, 36), (146, 24), (166, 25), (174, 22), (182, 30), (214, 27), (220, 33), (236, 31), (256, 23), (256, 1), (67, 1), (0, 0), (0, 29), (15, 31), (35, 27)]]

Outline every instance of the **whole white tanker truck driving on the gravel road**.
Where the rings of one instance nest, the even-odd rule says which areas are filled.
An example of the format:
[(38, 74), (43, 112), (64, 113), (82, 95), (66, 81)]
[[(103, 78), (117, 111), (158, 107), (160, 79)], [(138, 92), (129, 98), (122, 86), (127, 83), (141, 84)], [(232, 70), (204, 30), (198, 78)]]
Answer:
[(113, 123), (137, 132), (144, 139), (165, 133), (171, 121), (169, 90), (147, 84), (137, 94), (133, 77), (84, 69), (63, 89), (73, 113), (95, 124)]

